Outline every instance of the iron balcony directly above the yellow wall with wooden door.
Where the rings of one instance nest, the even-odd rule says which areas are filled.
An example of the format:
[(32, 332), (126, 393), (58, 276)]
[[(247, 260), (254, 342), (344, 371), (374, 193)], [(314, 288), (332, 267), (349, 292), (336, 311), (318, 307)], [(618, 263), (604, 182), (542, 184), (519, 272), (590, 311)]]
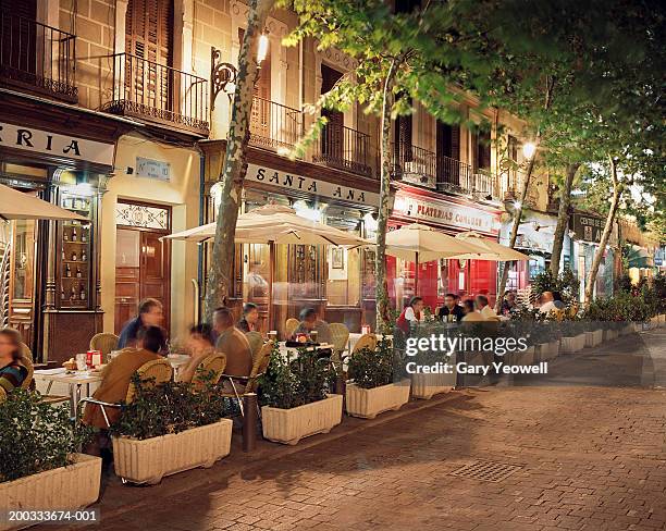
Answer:
[(208, 82), (130, 53), (113, 58), (113, 96), (103, 110), (208, 136)]

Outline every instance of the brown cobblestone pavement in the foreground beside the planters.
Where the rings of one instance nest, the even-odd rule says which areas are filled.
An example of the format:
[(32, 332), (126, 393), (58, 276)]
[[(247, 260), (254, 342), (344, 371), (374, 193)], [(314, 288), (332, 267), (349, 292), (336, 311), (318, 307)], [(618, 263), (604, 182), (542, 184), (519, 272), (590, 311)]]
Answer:
[[(644, 338), (649, 354), (664, 356), (664, 331)], [(101, 527), (664, 530), (666, 391), (654, 384), (456, 392), (456, 399), (171, 497), (168, 482), (177, 478), (156, 496), (130, 487), (146, 503), (111, 521), (102, 506)], [(474, 464), (485, 479), (452, 474)], [(507, 477), (489, 481), (505, 466), (513, 466)]]

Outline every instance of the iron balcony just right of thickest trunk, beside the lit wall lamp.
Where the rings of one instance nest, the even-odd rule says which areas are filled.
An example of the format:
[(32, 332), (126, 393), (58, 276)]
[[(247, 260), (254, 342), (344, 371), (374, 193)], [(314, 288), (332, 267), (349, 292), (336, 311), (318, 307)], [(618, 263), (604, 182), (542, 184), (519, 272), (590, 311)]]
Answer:
[(291, 149), (303, 136), (303, 113), (255, 96), (250, 116), (250, 144), (267, 149)]

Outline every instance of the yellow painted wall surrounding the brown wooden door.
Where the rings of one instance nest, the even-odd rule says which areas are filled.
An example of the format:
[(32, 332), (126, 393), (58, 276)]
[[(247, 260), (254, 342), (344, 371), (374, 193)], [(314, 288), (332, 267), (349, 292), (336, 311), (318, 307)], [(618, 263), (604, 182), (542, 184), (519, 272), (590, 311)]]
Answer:
[[(166, 161), (171, 182), (128, 175), (136, 169), (136, 157)], [(115, 175), (109, 181), (102, 199), (101, 292), (104, 331), (113, 331), (115, 297), (115, 205), (128, 199), (172, 206), (172, 229), (183, 231), (199, 224), (199, 153), (194, 149), (158, 144), (125, 135), (118, 143)], [(194, 321), (194, 287), (197, 277), (196, 244), (173, 242), (171, 256), (171, 335), (184, 335)]]

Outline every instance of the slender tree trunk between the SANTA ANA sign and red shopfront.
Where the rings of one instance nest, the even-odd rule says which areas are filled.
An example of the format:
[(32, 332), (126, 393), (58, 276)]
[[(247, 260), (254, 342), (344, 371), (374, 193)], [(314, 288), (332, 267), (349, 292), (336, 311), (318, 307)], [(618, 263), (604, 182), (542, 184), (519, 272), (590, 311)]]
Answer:
[(377, 331), (388, 332), (388, 289), (386, 285), (386, 224), (388, 222), (388, 206), (391, 199), (391, 109), (393, 107), (393, 83), (397, 69), (397, 60), (391, 63), (386, 79), (384, 79), (384, 95), (382, 101), (382, 137), (381, 137), (381, 181), (380, 207), (377, 219), (377, 254), (374, 260), (374, 275), (377, 281)]

